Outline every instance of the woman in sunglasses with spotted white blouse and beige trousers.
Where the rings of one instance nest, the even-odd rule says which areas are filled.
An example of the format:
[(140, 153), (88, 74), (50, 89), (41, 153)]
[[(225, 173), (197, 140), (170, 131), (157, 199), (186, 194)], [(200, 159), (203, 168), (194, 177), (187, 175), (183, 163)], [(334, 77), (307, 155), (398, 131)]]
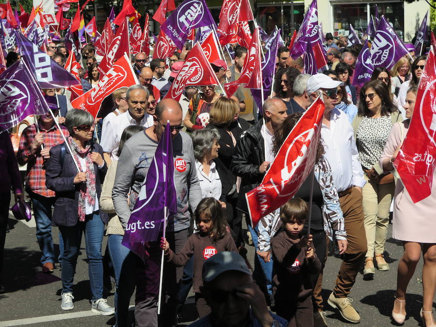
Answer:
[(403, 121), (401, 113), (392, 103), (390, 92), (381, 80), (363, 85), (360, 91), (358, 114), (352, 126), (358, 149), (358, 160), (365, 172), (362, 188), (364, 226), (368, 250), (363, 279), (372, 280), (375, 274), (374, 255), (380, 271), (389, 270), (383, 252), (388, 233), (390, 202), (394, 192), (393, 175), (384, 174), (378, 159), (388, 139), (390, 129)]

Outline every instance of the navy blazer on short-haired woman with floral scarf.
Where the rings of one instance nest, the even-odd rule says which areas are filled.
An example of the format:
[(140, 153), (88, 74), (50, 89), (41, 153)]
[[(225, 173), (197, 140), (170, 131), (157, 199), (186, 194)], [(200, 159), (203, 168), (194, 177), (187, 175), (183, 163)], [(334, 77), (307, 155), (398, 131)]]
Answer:
[[(58, 144), (50, 149), (50, 159), (47, 161), (46, 170), (46, 186), (56, 192), (56, 200), (54, 204), (52, 223), (55, 226), (75, 226), (78, 223), (78, 185), (73, 183), (74, 177), (77, 175), (77, 169), (74, 165), (73, 158), (65, 147), (65, 154), (62, 160), (62, 145)], [(103, 157), (103, 149), (93, 143), (93, 151), (98, 152)], [(63, 161), (63, 162), (62, 162)], [(101, 169), (94, 164), (95, 171), (95, 190), (100, 199), (101, 184), (103, 183), (108, 171), (106, 162)], [(103, 222), (108, 222), (108, 214), (100, 210), (100, 218)]]

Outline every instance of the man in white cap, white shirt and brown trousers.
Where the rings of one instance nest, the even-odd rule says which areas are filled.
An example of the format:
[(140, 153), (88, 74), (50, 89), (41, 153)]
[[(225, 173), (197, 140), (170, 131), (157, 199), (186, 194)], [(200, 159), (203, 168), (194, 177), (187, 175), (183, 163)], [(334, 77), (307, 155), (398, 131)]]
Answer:
[[(321, 129), (326, 151), (324, 156), (331, 166), (333, 180), (339, 194), (348, 241), (348, 247), (342, 256), (343, 263), (336, 279), (336, 286), (327, 302), (333, 308), (337, 308), (343, 318), (358, 323), (360, 316), (347, 296), (365, 260), (367, 250), (362, 208), (362, 187), (365, 185), (365, 180), (358, 161), (353, 129), (347, 115), (335, 108), (337, 89), (342, 85), (343, 82), (335, 81), (327, 75), (315, 74), (308, 80), (307, 93), (312, 101), (321, 94), (326, 106)], [(320, 280), (317, 286), (318, 284)], [(322, 311), (322, 308), (319, 310)]]

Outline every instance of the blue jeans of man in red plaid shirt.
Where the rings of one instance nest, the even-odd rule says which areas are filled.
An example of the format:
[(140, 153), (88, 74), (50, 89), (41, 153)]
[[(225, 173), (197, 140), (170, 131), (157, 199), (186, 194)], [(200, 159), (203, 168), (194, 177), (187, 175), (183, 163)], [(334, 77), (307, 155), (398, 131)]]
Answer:
[(55, 255), (53, 237), (51, 235), (51, 205), (54, 197), (47, 198), (40, 194), (29, 192), (36, 222), (36, 239), (41, 249), (41, 265), (47, 262), (54, 264)]

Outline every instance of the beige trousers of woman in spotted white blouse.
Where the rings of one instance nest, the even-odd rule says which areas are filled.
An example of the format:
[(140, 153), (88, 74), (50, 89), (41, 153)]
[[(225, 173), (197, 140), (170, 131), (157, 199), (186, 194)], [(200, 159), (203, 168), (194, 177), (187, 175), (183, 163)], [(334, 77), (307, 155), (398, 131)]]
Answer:
[(368, 251), (366, 257), (374, 257), (375, 253), (382, 254), (385, 250), (386, 235), (388, 234), (390, 202), (395, 190), (395, 184), (378, 185), (365, 175), (366, 184), (362, 188), (363, 213)]

